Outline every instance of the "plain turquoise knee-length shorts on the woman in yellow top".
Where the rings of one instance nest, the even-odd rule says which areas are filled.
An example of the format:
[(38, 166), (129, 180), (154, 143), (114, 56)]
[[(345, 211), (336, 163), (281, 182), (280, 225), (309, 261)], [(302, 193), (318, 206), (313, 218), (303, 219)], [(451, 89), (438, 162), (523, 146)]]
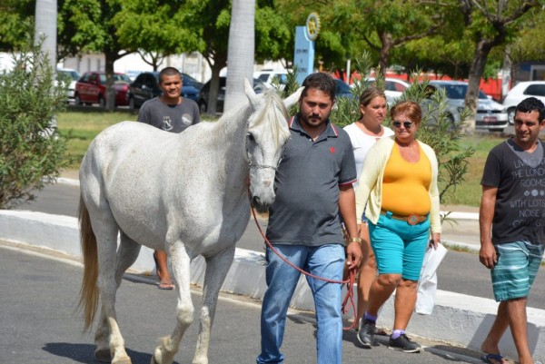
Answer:
[(381, 215), (376, 225), (369, 221), (369, 236), (379, 274), (401, 274), (405, 280), (420, 279), (430, 238), (430, 219), (409, 225), (407, 221)]

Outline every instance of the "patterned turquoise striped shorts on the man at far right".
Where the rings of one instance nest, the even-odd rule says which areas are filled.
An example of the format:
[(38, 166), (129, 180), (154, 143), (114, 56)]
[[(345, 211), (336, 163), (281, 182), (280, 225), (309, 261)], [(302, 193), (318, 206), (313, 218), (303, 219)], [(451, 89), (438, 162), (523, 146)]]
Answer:
[(498, 263), (490, 270), (494, 298), (502, 300), (528, 297), (540, 269), (545, 245), (513, 241), (494, 245)]

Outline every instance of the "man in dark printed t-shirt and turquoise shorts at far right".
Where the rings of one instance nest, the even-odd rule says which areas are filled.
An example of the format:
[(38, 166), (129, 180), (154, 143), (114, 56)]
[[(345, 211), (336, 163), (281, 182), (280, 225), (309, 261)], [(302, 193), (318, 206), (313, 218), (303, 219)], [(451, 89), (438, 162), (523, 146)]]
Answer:
[(545, 247), (545, 127), (543, 103), (523, 100), (515, 136), (494, 147), (482, 173), (481, 263), (490, 269), (498, 315), (482, 342), (481, 359), (504, 363), (499, 342), (510, 328), (520, 364), (534, 364), (528, 345), (526, 300)]

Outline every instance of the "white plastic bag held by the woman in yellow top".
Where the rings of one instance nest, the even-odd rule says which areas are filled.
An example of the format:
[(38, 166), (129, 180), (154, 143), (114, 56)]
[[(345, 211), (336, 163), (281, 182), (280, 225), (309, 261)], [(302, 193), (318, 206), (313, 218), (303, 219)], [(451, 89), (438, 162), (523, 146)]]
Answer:
[(416, 306), (414, 310), (421, 315), (430, 315), (435, 305), (435, 292), (437, 291), (437, 268), (445, 257), (447, 249), (440, 243), (437, 249), (430, 245), (422, 262), (421, 278), (418, 281), (416, 293)]

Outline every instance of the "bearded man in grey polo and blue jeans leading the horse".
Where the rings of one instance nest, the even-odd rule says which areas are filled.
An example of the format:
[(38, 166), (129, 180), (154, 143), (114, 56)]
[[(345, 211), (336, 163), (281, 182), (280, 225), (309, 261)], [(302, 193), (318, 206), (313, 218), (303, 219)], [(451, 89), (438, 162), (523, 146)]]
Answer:
[[(290, 121), (275, 179), (276, 198), (269, 213), (267, 239), (295, 266), (329, 280), (342, 280), (344, 261), (356, 269), (362, 260), (352, 183), (356, 181), (352, 143), (329, 121), (335, 84), (329, 74), (311, 74), (299, 110)], [(342, 216), (349, 241), (346, 255)], [(267, 291), (262, 307), (262, 352), (257, 363), (282, 363), (280, 351), (286, 312), (301, 273), (270, 248), (266, 251)], [(318, 321), (319, 364), (342, 363), (342, 314), (339, 283), (312, 279)]]

